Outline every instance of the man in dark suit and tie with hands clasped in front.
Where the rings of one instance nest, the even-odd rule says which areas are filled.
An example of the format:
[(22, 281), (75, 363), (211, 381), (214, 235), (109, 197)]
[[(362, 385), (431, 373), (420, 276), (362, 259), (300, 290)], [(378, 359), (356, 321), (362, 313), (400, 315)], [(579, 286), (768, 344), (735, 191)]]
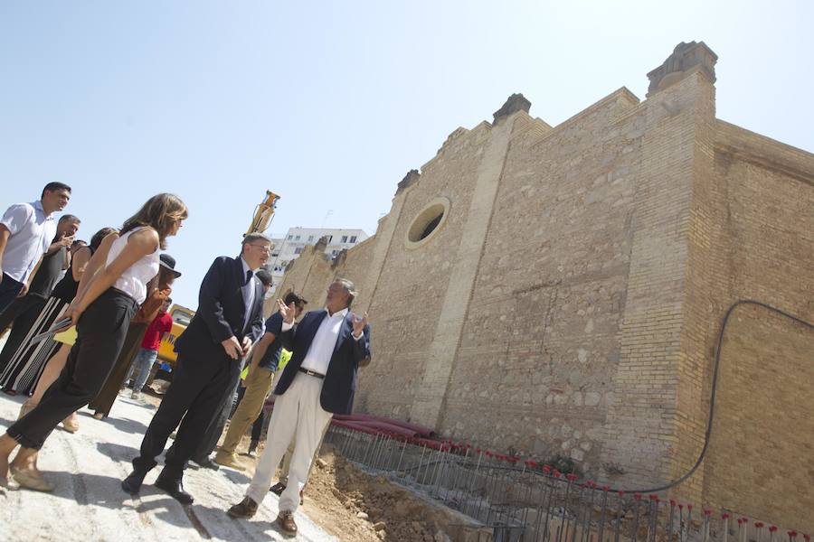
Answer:
[(121, 482), (124, 491), (139, 490), (167, 438), (181, 423), (156, 487), (184, 504), (192, 503), (182, 484), (186, 463), (224, 396), (240, 378), (241, 359), (263, 333), (263, 286), (254, 271), (269, 258), (270, 248), (270, 238), (249, 234), (243, 238), (240, 257), (217, 257), (207, 271), (198, 310), (175, 341), (178, 361), (173, 383), (147, 428), (133, 472)]

